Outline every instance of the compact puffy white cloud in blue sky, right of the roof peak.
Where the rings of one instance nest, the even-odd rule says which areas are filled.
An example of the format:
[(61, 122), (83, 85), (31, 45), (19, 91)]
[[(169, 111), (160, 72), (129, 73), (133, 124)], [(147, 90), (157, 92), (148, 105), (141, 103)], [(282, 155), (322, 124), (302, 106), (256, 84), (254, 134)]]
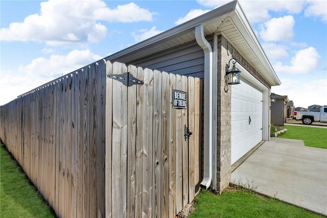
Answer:
[(260, 36), (265, 41), (289, 41), (294, 36), (294, 24), (292, 15), (272, 18), (264, 24)]

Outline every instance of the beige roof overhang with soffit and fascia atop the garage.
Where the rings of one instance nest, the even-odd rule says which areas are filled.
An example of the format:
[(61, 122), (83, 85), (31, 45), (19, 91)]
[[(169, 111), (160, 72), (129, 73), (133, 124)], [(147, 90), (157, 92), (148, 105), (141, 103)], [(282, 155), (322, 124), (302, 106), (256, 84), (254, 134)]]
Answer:
[(110, 55), (106, 60), (129, 63), (194, 41), (195, 27), (198, 25), (203, 26), (205, 35), (223, 33), (270, 85), (281, 84), (237, 1)]

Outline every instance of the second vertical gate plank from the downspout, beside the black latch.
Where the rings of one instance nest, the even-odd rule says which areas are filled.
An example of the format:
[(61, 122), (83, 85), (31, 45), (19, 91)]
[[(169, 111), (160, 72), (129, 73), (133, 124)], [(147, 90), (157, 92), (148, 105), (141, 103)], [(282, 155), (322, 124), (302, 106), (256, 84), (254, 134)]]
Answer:
[(194, 144), (195, 137), (197, 134), (195, 129), (194, 120), (194, 78), (188, 78), (188, 116), (189, 116), (189, 129), (193, 133), (189, 139), (189, 202), (192, 202), (195, 196), (195, 185), (194, 185)]

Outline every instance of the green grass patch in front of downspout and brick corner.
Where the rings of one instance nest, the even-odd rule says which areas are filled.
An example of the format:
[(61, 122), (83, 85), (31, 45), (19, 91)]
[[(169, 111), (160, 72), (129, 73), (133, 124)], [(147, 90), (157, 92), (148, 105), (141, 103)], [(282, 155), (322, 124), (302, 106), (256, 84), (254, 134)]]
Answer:
[(194, 217), (322, 217), (244, 188), (227, 188), (221, 195), (201, 191), (195, 200)]

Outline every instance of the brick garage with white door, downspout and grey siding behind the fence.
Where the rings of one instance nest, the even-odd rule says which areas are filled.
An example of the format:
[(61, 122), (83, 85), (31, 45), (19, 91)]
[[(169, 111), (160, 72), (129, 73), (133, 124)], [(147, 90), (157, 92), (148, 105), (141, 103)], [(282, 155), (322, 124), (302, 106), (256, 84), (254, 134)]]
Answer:
[[(241, 70), (241, 84), (226, 84), (231, 58)], [(221, 192), (237, 161), (270, 139), (269, 96), (281, 81), (238, 1), (105, 59), (204, 80), (203, 187)]]

